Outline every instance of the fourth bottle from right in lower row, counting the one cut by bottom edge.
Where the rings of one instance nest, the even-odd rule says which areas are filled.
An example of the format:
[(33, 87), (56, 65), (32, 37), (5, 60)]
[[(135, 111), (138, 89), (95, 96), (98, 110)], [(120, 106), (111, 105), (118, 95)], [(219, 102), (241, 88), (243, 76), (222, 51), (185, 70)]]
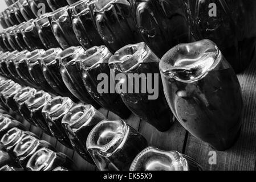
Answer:
[(43, 117), (50, 128), (51, 134), (68, 148), (72, 148), (72, 144), (62, 127), (62, 118), (74, 105), (74, 102), (68, 97), (55, 97), (42, 110)]

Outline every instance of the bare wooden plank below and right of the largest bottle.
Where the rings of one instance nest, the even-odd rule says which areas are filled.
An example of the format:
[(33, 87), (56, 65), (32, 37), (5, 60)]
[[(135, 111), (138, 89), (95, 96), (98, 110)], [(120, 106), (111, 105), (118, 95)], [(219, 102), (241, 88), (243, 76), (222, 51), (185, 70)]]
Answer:
[(241, 83), (245, 110), (241, 135), (229, 150), (217, 152), (217, 164), (209, 164), (209, 151), (205, 142), (189, 135), (185, 154), (196, 159), (205, 170), (254, 170), (256, 161), (256, 61), (238, 75)]

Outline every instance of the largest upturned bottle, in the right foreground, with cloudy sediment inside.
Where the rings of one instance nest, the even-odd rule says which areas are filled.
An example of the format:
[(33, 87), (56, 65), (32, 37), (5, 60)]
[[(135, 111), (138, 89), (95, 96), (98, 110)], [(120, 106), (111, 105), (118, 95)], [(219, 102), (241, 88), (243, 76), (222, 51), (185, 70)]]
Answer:
[(216, 44), (180, 44), (162, 57), (160, 71), (181, 125), (216, 150), (230, 148), (240, 133), (243, 100), (238, 78)]

